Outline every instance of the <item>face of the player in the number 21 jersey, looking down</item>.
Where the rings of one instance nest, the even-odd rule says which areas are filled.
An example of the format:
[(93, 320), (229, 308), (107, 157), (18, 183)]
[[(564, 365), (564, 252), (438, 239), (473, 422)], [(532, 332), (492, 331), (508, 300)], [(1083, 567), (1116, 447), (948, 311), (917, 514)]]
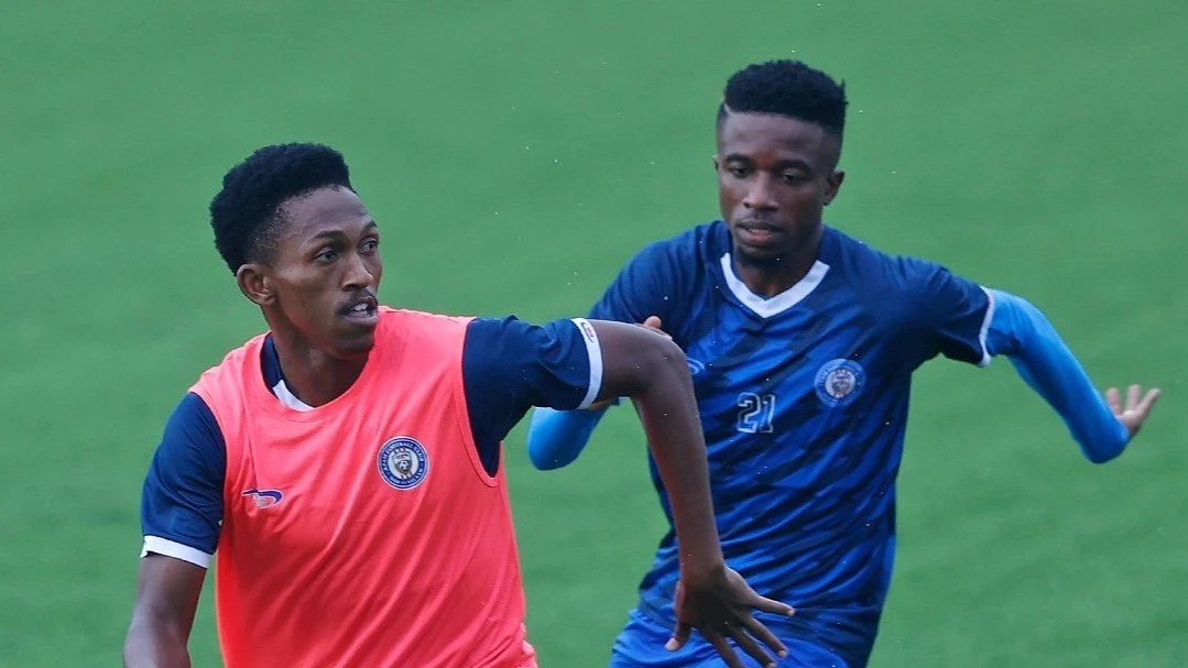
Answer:
[(838, 138), (775, 114), (729, 114), (718, 131), (718, 198), (737, 254), (783, 257), (816, 241), (841, 187)]

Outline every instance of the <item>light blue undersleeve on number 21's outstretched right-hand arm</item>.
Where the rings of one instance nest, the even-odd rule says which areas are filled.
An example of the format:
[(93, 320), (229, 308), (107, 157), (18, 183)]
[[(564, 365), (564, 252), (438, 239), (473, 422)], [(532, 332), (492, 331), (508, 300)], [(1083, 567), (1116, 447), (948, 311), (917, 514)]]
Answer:
[(1005, 355), (1019, 376), (1060, 414), (1085, 457), (1108, 462), (1130, 433), (1093, 386), (1048, 318), (1025, 299), (991, 290), (994, 313), (986, 332), (991, 355)]

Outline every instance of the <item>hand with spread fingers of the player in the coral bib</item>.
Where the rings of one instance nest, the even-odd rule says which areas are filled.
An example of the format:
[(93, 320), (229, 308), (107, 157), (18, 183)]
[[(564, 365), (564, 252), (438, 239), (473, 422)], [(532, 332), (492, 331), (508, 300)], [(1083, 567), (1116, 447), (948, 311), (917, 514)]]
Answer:
[(677, 619), (676, 630), (664, 645), (669, 651), (684, 647), (693, 629), (697, 629), (731, 668), (745, 668), (745, 666), (727, 638), (733, 638), (742, 651), (765, 668), (775, 668), (776, 661), (756, 640), (775, 650), (778, 656), (788, 656), (784, 643), (752, 617), (751, 611), (760, 610), (789, 617), (796, 611), (790, 605), (759, 596), (742, 575), (731, 568), (723, 568), (700, 581), (687, 580), (682, 574), (676, 586), (674, 610)]

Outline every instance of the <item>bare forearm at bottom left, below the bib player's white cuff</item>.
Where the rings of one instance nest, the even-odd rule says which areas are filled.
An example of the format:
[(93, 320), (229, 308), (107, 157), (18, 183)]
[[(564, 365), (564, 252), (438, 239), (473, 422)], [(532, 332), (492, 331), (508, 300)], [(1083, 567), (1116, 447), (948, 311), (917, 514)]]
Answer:
[(172, 556), (140, 560), (125, 668), (189, 668), (187, 644), (206, 575), (206, 568)]

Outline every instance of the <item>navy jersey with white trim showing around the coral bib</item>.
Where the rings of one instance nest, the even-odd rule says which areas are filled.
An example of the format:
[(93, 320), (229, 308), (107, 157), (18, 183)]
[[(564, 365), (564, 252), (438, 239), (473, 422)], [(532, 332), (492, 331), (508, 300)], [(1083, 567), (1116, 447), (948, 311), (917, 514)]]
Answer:
[[(595, 335), (596, 337), (596, 335)], [(593, 350), (592, 350), (593, 346)], [(478, 318), (467, 326), (462, 382), (474, 443), (489, 475), (500, 441), (532, 406), (575, 408), (595, 399), (601, 351), (568, 320), (543, 326), (514, 318)], [(284, 382), (272, 337), (261, 350), (264, 377), (277, 401), (297, 411), (309, 406)], [(141, 497), (141, 526), (150, 552), (207, 567), (223, 519), (226, 445), (209, 407), (187, 394), (165, 426)]]

